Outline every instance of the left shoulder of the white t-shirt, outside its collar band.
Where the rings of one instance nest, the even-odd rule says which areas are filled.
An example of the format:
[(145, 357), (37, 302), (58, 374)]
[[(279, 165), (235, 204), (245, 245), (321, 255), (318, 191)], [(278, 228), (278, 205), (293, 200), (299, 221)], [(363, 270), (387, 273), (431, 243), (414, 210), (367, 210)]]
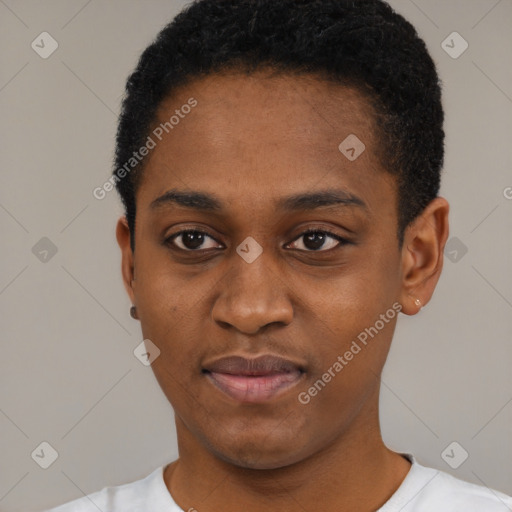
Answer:
[(148, 498), (160, 484), (163, 467), (157, 468), (141, 480), (123, 485), (104, 487), (100, 491), (70, 501), (43, 512), (128, 512), (143, 510), (141, 505), (148, 503)]

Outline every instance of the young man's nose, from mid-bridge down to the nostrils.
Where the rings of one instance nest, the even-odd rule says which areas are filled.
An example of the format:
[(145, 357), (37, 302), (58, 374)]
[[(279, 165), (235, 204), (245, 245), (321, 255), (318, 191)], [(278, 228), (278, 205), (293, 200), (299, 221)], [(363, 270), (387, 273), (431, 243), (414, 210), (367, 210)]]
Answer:
[(268, 260), (265, 252), (252, 263), (235, 255), (212, 309), (213, 320), (221, 327), (255, 334), (269, 324), (290, 324), (291, 289)]

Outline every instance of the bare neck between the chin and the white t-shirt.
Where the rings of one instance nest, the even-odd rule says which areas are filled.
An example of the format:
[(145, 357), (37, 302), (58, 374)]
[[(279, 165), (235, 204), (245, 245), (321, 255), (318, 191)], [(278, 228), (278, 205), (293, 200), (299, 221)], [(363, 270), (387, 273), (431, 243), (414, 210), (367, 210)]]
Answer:
[[(164, 480), (183, 510), (200, 512), (372, 512), (398, 489), (410, 463), (383, 443), (378, 392), (350, 428), (311, 457), (277, 469), (229, 464), (208, 451), (177, 418), (180, 458)], [(320, 501), (321, 500), (321, 501)]]

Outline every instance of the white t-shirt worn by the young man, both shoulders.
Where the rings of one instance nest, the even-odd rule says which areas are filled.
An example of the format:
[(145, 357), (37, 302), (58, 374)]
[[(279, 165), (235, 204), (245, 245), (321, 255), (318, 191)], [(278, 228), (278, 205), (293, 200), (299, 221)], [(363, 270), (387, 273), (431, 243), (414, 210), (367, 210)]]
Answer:
[[(512, 497), (422, 466), (410, 453), (402, 455), (412, 463), (411, 468), (393, 496), (375, 512), (512, 511)], [(45, 512), (184, 512), (167, 490), (164, 468), (142, 480), (105, 487)]]

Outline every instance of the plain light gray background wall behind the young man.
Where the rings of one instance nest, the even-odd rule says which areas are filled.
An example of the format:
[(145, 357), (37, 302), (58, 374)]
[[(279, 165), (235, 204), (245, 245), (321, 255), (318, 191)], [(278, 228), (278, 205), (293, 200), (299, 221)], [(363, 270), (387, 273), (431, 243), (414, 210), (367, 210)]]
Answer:
[[(383, 436), (512, 494), (512, 1), (390, 3), (444, 82), (442, 195), (459, 241), (431, 303), (400, 316)], [(121, 206), (115, 192), (99, 201), (92, 190), (111, 170), (126, 77), (184, 4), (0, 0), (2, 511), (54, 506), (177, 456), (172, 409), (133, 355), (142, 338), (120, 275)], [(47, 59), (31, 48), (43, 31), (59, 44)], [(453, 31), (469, 43), (457, 59), (441, 46)], [(57, 248), (46, 261), (32, 250), (42, 237)], [(59, 454), (46, 470), (31, 457), (43, 441)], [(457, 469), (441, 456), (454, 441), (469, 453)]]

